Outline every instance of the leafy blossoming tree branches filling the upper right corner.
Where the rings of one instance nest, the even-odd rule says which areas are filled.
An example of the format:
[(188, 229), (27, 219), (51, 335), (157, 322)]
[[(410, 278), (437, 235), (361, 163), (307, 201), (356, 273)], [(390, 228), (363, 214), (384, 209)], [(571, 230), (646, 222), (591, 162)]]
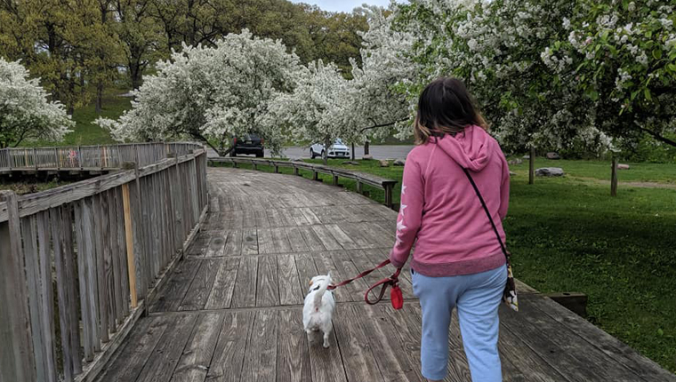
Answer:
[[(559, 83), (591, 103), (594, 123), (632, 147), (648, 133), (676, 147), (676, 1), (582, 0), (543, 52)], [(566, 60), (562, 60), (566, 57)], [(568, 59), (570, 58), (570, 59)]]

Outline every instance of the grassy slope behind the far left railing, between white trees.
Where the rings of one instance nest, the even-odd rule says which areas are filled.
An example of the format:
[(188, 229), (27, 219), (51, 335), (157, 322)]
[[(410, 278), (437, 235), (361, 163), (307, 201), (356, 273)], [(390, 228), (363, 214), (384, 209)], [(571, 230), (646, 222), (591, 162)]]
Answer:
[(94, 105), (87, 105), (75, 110), (73, 121), (76, 126), (72, 132), (66, 134), (60, 142), (49, 140), (39, 140), (24, 142), (21, 146), (86, 146), (86, 145), (107, 145), (116, 143), (111, 137), (109, 131), (101, 129), (93, 121), (99, 116), (117, 119), (122, 112), (131, 108), (131, 99), (119, 97), (117, 94), (125, 93), (125, 90), (111, 89), (103, 97), (103, 107), (101, 115), (96, 113)]

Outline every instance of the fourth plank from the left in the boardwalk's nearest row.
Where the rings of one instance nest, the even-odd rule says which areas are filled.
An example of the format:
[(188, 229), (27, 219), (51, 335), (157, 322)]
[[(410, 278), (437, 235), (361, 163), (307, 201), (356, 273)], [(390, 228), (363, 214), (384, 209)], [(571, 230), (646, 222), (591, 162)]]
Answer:
[(206, 374), (210, 382), (239, 382), (245, 355), (246, 339), (254, 323), (254, 312), (225, 314), (221, 335)]

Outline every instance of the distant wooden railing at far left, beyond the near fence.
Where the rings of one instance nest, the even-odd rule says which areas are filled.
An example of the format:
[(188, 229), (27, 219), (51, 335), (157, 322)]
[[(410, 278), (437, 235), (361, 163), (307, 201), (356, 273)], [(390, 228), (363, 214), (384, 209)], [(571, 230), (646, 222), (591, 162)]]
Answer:
[(107, 146), (17, 147), (0, 150), (0, 170), (109, 170), (134, 162), (157, 163), (169, 153), (187, 155), (192, 143), (129, 143)]

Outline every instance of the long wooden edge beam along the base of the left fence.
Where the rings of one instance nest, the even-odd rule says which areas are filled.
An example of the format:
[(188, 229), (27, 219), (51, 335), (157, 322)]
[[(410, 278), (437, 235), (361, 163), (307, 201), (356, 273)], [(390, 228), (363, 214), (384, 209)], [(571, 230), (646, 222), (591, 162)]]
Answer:
[[(109, 343), (103, 344), (101, 346), (101, 352), (94, 357), (93, 362), (89, 362), (82, 370), (82, 373), (75, 378), (75, 382), (93, 382), (97, 380), (101, 371), (104, 367), (111, 361), (114, 361), (117, 358), (117, 349), (125, 342), (125, 338), (132, 331), (133, 326), (142, 316), (147, 316), (149, 311), (149, 306), (152, 300), (157, 295), (157, 290), (160, 290), (162, 286), (167, 283), (169, 276), (172, 275), (173, 269), (181, 262), (183, 259), (183, 254), (188, 249), (190, 244), (195, 241), (197, 234), (204, 225), (206, 219), (206, 212), (208, 211), (208, 203), (205, 205), (205, 208), (200, 214), (199, 220), (197, 220), (197, 225), (192, 229), (188, 238), (186, 238), (183, 243), (183, 248), (181, 251), (178, 251), (174, 256), (173, 260), (165, 267), (165, 271), (159, 276), (157, 283), (149, 290), (146, 298), (142, 299), (139, 302), (139, 306), (135, 308), (132, 314), (125, 319), (125, 322), (122, 324), (120, 329), (117, 331), (117, 335)], [(115, 356), (115, 357), (114, 357)]]

